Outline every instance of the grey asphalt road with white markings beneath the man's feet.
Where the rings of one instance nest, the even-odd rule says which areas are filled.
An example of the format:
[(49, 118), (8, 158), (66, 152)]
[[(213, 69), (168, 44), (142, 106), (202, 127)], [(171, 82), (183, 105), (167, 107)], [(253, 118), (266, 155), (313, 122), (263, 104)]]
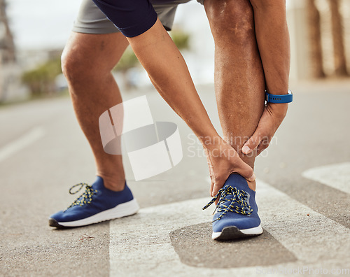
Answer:
[[(94, 180), (69, 99), (1, 108), (0, 276), (350, 276), (350, 83), (291, 88), (288, 117), (255, 168), (264, 234), (225, 243), (211, 240), (214, 207), (202, 211), (210, 198), (200, 145), (154, 90), (124, 99), (146, 94), (154, 120), (178, 125), (182, 161), (135, 181), (125, 159), (141, 211), (75, 229), (48, 227), (76, 198), (69, 187)], [(219, 129), (213, 87), (198, 90)]]

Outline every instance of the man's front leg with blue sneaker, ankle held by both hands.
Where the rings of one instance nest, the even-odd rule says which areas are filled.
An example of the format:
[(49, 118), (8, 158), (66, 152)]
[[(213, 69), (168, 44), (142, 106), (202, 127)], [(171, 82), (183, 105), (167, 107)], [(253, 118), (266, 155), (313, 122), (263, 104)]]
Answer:
[[(265, 78), (255, 38), (253, 8), (249, 0), (205, 0), (204, 7), (215, 42), (215, 92), (223, 134), (253, 168), (256, 152), (241, 152), (255, 132), (265, 104)], [(255, 181), (247, 183), (242, 176), (231, 175), (216, 201), (213, 239), (262, 234)]]

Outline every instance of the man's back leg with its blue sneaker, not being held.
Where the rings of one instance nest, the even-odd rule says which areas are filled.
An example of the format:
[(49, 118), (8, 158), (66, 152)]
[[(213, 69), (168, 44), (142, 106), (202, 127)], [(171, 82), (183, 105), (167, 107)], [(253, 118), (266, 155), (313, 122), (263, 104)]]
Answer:
[(99, 134), (100, 115), (122, 101), (111, 70), (127, 44), (125, 37), (116, 33), (73, 33), (66, 44), (62, 69), (76, 117), (94, 154), (97, 178), (92, 185), (75, 185), (79, 186), (78, 191), (85, 186), (85, 192), (66, 210), (50, 215), (51, 227), (85, 226), (134, 215), (139, 210), (130, 188), (125, 185), (121, 155), (106, 154)]

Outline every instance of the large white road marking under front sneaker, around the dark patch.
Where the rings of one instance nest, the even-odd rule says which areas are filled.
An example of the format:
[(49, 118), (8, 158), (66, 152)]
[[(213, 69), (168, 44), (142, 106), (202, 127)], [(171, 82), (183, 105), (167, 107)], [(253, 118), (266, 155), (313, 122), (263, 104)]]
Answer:
[[(330, 269), (335, 262), (339, 267), (348, 267), (349, 249), (344, 246), (350, 242), (349, 229), (262, 181), (258, 181), (257, 195), (262, 227), (298, 259), (281, 264), (283, 267)], [(181, 263), (169, 233), (209, 222), (212, 211), (202, 211), (208, 201), (209, 198), (202, 198), (143, 208), (138, 215), (111, 221), (111, 276), (255, 276), (257, 267), (208, 269)]]

